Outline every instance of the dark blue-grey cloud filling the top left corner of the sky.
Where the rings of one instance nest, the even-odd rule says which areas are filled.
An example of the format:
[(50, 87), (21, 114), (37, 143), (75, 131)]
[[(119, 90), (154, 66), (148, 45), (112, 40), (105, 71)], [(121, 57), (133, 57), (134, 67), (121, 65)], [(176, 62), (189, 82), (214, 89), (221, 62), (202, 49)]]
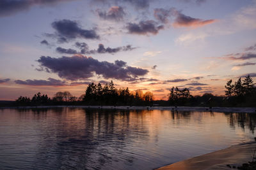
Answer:
[(29, 10), (35, 5), (51, 5), (54, 3), (61, 3), (72, 0), (1, 0), (0, 1), (0, 17), (13, 15), (20, 11)]

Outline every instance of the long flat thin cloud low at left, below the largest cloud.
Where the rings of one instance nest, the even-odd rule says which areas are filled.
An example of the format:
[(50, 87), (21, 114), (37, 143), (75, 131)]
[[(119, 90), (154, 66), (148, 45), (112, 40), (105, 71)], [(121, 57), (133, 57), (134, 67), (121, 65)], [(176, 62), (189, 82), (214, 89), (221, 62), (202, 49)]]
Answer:
[(19, 85), (33, 85), (33, 86), (63, 86), (66, 85), (66, 81), (56, 80), (54, 78), (48, 78), (48, 80), (15, 80), (15, 83)]

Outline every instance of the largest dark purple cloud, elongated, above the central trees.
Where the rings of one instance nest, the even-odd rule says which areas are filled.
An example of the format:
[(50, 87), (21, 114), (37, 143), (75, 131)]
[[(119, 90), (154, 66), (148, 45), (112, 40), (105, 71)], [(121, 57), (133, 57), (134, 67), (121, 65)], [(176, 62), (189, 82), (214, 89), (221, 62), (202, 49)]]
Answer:
[(41, 67), (49, 69), (52, 73), (56, 73), (67, 80), (83, 80), (96, 74), (104, 78), (131, 81), (148, 73), (147, 69), (127, 66), (126, 62), (122, 60), (116, 60), (115, 63), (100, 62), (84, 55), (60, 58), (42, 56), (37, 61)]

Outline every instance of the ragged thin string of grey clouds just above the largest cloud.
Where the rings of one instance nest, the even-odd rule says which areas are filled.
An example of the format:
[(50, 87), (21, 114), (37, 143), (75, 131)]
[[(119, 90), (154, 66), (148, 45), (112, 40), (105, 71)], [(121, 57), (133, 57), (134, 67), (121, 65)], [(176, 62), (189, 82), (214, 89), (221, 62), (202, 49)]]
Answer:
[(118, 46), (116, 48), (105, 48), (104, 45), (99, 44), (99, 47), (95, 50), (89, 50), (88, 45), (86, 43), (79, 43), (76, 42), (77, 48), (81, 49), (80, 52), (77, 52), (77, 50), (71, 49), (71, 48), (61, 48), (60, 46), (56, 48), (56, 52), (58, 53), (67, 53), (67, 54), (94, 54), (94, 53), (117, 53), (117, 52), (126, 52), (136, 49), (135, 47), (132, 47), (131, 45), (127, 46)]

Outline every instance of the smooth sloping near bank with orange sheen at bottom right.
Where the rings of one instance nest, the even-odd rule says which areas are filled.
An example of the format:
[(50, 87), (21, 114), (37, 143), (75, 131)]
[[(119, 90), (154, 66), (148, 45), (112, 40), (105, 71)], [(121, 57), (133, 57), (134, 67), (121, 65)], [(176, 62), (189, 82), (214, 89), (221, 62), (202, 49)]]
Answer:
[(256, 142), (240, 143), (223, 150), (206, 153), (167, 166), (158, 167), (155, 170), (189, 170), (189, 169), (231, 169), (252, 161), (253, 150)]

